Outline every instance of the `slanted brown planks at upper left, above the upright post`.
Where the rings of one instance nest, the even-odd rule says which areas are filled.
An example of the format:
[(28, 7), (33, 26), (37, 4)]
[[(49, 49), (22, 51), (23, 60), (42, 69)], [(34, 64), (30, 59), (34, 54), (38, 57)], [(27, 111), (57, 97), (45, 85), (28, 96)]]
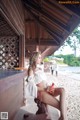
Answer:
[(21, 4), (21, 0), (19, 0), (19, 5), (18, 1), (8, 0), (6, 2), (5, 0), (0, 0), (1, 13), (4, 15), (9, 25), (15, 30), (18, 35), (24, 34), (25, 32), (24, 21), (22, 19), (23, 14), (20, 14), (23, 13)]

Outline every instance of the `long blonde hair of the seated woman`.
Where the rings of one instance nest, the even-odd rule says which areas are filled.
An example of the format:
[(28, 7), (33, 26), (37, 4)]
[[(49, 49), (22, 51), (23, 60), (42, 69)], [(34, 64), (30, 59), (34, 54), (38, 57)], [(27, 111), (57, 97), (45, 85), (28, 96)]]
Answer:
[(34, 70), (36, 69), (36, 61), (39, 57), (39, 55), (41, 54), (41, 52), (36, 52), (34, 51), (29, 59), (29, 68), (28, 68), (28, 76), (30, 76), (31, 71), (34, 72)]

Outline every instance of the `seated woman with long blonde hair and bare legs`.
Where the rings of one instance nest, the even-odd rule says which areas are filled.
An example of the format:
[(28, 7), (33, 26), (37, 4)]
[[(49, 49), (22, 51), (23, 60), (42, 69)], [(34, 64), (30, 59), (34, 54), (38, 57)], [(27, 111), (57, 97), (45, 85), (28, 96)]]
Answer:
[[(33, 52), (30, 57), (30, 65), (28, 68), (28, 78), (34, 76), (34, 82), (37, 86), (37, 97), (43, 103), (51, 105), (60, 110), (59, 120), (67, 120), (66, 118), (66, 107), (65, 107), (65, 90), (64, 88), (52, 88), (47, 86), (44, 82), (46, 78), (40, 67), (41, 53)], [(55, 97), (60, 96), (60, 101)]]

